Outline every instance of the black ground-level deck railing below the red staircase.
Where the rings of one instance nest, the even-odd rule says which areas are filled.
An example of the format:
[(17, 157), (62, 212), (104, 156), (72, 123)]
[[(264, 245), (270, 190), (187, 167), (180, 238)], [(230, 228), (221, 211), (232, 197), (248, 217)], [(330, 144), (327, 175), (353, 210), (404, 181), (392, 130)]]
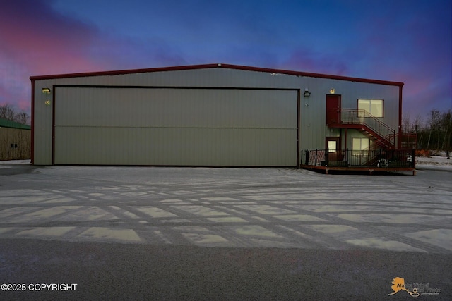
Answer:
[(302, 166), (415, 168), (415, 149), (336, 150), (314, 149), (302, 152)]

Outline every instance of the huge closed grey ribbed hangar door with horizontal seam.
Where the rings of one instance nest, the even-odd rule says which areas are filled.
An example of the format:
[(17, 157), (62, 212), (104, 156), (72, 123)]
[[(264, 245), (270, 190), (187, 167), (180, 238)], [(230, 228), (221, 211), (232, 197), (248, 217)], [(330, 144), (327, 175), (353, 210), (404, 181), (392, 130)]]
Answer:
[(297, 166), (296, 90), (54, 92), (54, 164)]

